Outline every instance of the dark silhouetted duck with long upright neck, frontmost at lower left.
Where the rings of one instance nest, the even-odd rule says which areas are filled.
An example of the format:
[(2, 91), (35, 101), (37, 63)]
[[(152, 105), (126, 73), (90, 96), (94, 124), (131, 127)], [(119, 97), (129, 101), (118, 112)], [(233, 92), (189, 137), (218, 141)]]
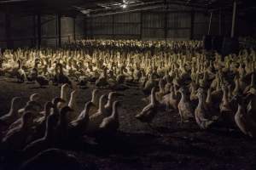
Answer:
[(32, 143), (27, 144), (23, 149), (26, 157), (32, 157), (38, 154), (42, 150), (46, 150), (53, 145), (54, 138), (54, 116), (49, 115), (44, 122), (44, 136), (40, 139), (32, 141)]

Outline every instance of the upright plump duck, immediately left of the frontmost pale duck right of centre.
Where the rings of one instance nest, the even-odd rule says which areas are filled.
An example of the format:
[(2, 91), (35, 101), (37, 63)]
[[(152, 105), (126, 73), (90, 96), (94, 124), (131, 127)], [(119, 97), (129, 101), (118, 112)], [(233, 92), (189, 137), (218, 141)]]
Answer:
[(188, 99), (186, 88), (179, 88), (179, 93), (182, 97), (177, 105), (178, 113), (181, 117), (181, 122), (188, 122), (189, 118), (193, 117), (193, 107)]

